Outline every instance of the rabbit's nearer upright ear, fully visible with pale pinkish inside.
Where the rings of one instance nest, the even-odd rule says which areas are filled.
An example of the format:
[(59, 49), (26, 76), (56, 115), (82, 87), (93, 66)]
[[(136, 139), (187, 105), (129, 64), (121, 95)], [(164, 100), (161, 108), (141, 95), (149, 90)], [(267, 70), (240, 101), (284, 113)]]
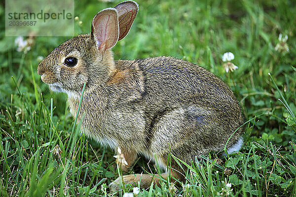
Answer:
[(117, 43), (119, 35), (117, 10), (106, 8), (97, 13), (92, 20), (91, 34), (100, 51), (111, 49)]

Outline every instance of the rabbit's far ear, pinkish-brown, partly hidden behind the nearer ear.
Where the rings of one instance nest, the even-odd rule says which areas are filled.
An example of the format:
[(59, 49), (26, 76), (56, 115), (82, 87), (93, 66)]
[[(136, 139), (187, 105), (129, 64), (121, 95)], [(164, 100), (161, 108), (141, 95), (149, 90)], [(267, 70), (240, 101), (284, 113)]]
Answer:
[(124, 1), (114, 7), (118, 12), (119, 38), (121, 40), (129, 33), (138, 13), (138, 3), (132, 0)]

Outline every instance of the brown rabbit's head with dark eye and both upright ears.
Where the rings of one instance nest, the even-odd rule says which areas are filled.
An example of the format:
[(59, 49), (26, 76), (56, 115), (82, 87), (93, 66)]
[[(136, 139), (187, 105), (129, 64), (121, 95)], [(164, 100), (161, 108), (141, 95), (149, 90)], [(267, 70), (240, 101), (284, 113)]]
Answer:
[(124, 1), (95, 15), (91, 33), (78, 35), (54, 49), (37, 68), (52, 91), (79, 96), (102, 85), (115, 72), (111, 48), (129, 32), (138, 12), (135, 1)]

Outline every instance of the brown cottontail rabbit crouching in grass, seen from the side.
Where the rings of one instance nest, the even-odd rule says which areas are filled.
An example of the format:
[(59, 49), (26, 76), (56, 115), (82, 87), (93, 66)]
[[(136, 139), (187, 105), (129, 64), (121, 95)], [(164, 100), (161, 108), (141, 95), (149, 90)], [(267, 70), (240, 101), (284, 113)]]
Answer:
[[(104, 146), (120, 147), (130, 169), (139, 156), (157, 162), (165, 172), (124, 175), (123, 182), (148, 188), (171, 177), (184, 181), (182, 166), (210, 151), (228, 153), (243, 144), (244, 117), (230, 88), (201, 66), (172, 57), (114, 61), (111, 48), (124, 38), (138, 13), (135, 1), (98, 12), (91, 32), (54, 49), (37, 67), (51, 91), (68, 95), (81, 130)], [(170, 174), (170, 176), (168, 176)], [(121, 177), (110, 184), (121, 188)]]

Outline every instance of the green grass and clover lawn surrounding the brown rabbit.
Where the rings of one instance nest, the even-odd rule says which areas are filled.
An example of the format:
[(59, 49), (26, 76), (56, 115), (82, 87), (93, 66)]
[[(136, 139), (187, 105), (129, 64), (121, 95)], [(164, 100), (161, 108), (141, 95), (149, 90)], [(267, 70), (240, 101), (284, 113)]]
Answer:
[[(117, 3), (76, 0), (83, 24), (75, 22), (75, 34), (90, 32), (92, 17)], [(296, 2), (138, 3), (129, 35), (113, 48), (115, 59), (166, 55), (204, 66), (230, 86), (247, 126), (239, 153), (222, 162), (216, 153), (205, 155), (183, 172), (183, 186), (163, 181), (141, 188), (139, 196), (296, 196)], [(0, 196), (111, 196), (107, 185), (118, 176), (114, 153), (74, 127), (67, 96), (50, 93), (37, 75), (37, 57), (68, 38), (35, 37), (27, 54), (17, 52), (16, 37), (4, 34), (3, 3), (0, 15)], [(279, 33), (288, 35), (289, 52), (275, 50)], [(227, 51), (238, 66), (231, 73), (222, 66)], [(150, 169), (140, 159), (133, 170)]]

